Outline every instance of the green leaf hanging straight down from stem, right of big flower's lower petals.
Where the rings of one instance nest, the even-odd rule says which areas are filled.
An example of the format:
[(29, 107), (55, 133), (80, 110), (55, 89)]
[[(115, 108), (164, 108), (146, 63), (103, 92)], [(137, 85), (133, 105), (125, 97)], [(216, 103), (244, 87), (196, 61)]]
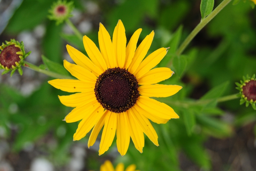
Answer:
[(191, 133), (195, 127), (195, 115), (193, 111), (187, 109), (183, 111), (183, 120), (187, 130), (187, 135), (191, 136)]

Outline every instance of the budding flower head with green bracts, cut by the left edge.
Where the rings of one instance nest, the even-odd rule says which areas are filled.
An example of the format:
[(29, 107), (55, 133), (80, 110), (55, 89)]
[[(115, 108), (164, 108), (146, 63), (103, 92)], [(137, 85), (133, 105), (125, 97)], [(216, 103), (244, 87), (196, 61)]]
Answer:
[(21, 65), (29, 54), (30, 52), (25, 53), (23, 42), (19, 43), (15, 39), (11, 39), (10, 42), (6, 41), (6, 44), (2, 43), (0, 46), (0, 67), (5, 70), (2, 75), (11, 71), (12, 76), (17, 69), (22, 75)]

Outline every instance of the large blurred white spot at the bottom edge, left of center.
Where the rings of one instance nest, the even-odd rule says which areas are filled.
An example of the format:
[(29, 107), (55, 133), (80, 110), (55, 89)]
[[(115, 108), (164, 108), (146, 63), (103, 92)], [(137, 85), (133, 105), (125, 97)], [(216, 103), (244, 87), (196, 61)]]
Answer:
[(37, 158), (32, 161), (30, 166), (30, 171), (53, 171), (53, 164), (44, 159), (44, 158)]

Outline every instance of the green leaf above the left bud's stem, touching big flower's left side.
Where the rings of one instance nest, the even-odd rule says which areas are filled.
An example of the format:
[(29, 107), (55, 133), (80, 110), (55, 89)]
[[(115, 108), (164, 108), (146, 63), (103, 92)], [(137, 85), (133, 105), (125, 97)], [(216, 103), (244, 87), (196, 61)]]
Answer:
[(67, 72), (67, 70), (64, 68), (63, 65), (61, 65), (57, 62), (53, 62), (53, 61), (47, 59), (43, 55), (42, 55), (42, 60), (43, 60), (43, 63), (45, 64), (45, 66), (48, 68), (48, 70), (57, 72), (62, 75), (69, 75), (69, 73)]

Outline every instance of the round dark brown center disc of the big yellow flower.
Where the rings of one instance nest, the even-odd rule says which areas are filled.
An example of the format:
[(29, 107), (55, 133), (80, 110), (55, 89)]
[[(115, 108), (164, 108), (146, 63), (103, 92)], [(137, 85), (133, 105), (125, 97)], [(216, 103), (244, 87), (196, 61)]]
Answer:
[(122, 113), (133, 107), (139, 97), (136, 77), (122, 68), (109, 68), (99, 75), (94, 92), (103, 108)]

